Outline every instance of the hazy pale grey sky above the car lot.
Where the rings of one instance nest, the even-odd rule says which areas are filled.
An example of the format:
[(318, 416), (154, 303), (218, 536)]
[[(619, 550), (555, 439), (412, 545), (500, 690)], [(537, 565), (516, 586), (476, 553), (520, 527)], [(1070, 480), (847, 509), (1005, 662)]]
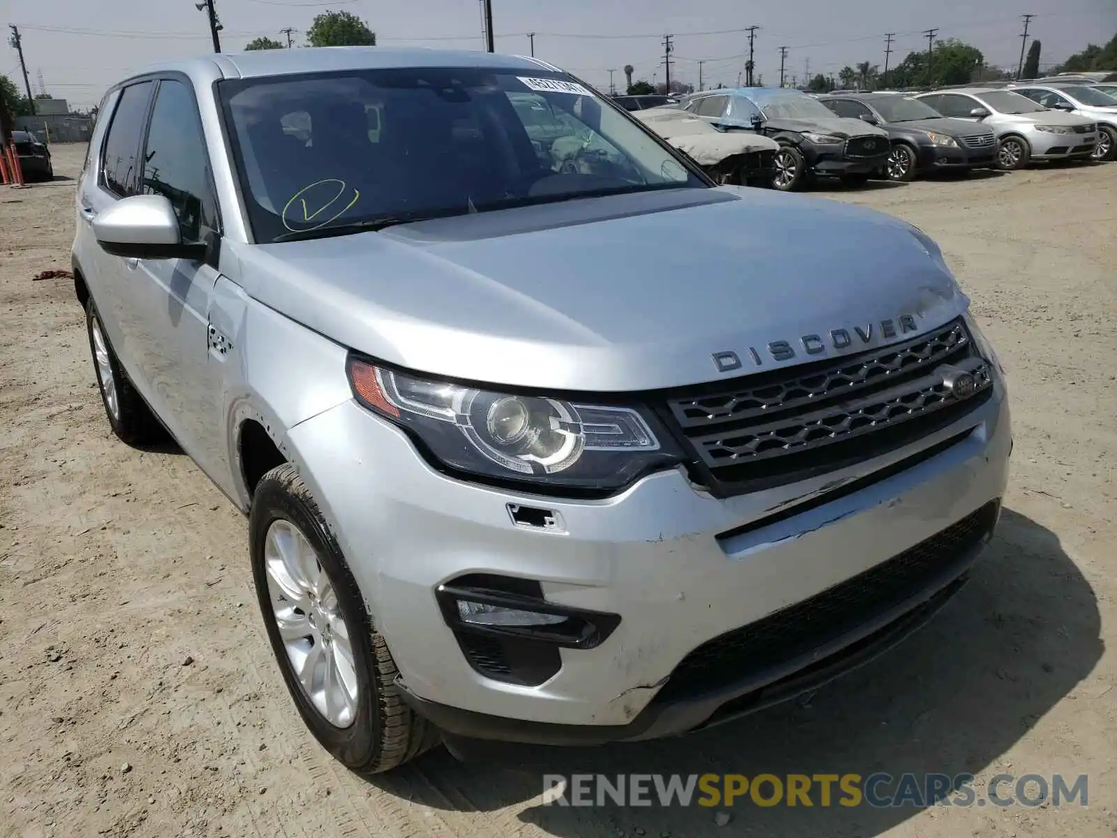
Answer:
[[(805, 73), (837, 75), (846, 65), (884, 65), (885, 34), (896, 32), (890, 63), (926, 49), (922, 30), (976, 46), (986, 63), (1015, 68), (1024, 12), (1034, 15), (1029, 35), (1042, 42), (1041, 67), (1104, 44), (1117, 34), (1117, 0), (491, 0), (496, 50), (527, 55), (527, 32), (536, 32), (535, 55), (608, 91), (609, 69), (623, 86), (622, 68), (634, 78), (662, 82), (662, 40), (674, 35), (671, 75), (706, 87), (736, 85), (748, 37), (757, 26), (755, 73), (779, 83), (780, 47), (787, 47), (789, 80)], [(363, 18), (384, 46), (484, 49), (479, 0), (214, 0), (225, 29), (223, 51), (239, 51), (257, 36), (295, 44), (314, 16), (346, 10)], [(690, 9), (687, 10), (686, 7)], [(143, 10), (143, 11), (141, 11)], [(0, 0), (0, 22), (20, 28), (32, 92), (66, 98), (71, 106), (96, 104), (126, 73), (154, 61), (212, 50), (204, 11), (194, 0)], [(8, 31), (4, 32), (8, 35)], [(22, 89), (19, 57), (0, 46), (0, 73)]]

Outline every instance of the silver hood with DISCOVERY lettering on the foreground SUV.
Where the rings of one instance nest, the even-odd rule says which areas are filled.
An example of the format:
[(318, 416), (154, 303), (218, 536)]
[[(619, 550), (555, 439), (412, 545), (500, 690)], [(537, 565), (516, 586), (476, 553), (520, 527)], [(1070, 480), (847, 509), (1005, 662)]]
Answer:
[[(907, 336), (942, 325), (967, 299), (920, 236), (824, 199), (672, 189), (230, 242), (237, 265), (222, 269), (262, 304), (392, 364), (509, 387), (632, 391), (887, 344), (901, 315)], [(849, 345), (841, 333), (832, 340), (836, 330)], [(822, 349), (809, 340), (808, 354), (802, 339), (812, 335)], [(794, 356), (777, 361), (776, 341)], [(719, 372), (713, 355), (723, 352), (742, 366)]]

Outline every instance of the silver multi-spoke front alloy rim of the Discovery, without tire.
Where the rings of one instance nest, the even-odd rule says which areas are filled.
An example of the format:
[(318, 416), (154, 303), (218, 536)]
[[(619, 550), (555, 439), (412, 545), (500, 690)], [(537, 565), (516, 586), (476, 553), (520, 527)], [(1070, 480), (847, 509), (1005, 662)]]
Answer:
[(330, 724), (349, 727), (356, 717), (356, 667), (333, 582), (307, 537), (283, 518), (268, 527), (264, 568), (273, 618), (303, 693)]

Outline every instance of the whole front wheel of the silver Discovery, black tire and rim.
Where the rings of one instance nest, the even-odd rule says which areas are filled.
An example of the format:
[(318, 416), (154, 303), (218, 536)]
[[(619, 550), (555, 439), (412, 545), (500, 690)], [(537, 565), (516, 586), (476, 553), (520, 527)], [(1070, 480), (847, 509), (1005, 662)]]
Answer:
[[(303, 572), (302, 568), (307, 566), (305, 561), (295, 565), (285, 563), (281, 553), (275, 549), (287, 537), (285, 533), (289, 535), (292, 532), (302, 535), (305, 544), (313, 550), (309, 574), (318, 581)], [(269, 533), (278, 536), (278, 540), (271, 541), (271, 547)], [(249, 513), (249, 555), (260, 612), (287, 691), (303, 722), (322, 746), (350, 770), (376, 774), (402, 765), (437, 745), (440, 740), (438, 729), (412, 712), (400, 697), (394, 684), (398, 670), (388, 645), (376, 634), (364, 598), (318, 505), (290, 464), (273, 468), (256, 487)], [(273, 571), (268, 570), (268, 556)], [(296, 565), (299, 568), (296, 572), (287, 570)], [(321, 575), (315, 574), (315, 568)], [(302, 585), (296, 579), (299, 573), (304, 582)], [(326, 588), (322, 588), (323, 578)], [(316, 590), (322, 591), (318, 599), (308, 592), (316, 585)], [(287, 591), (297, 591), (297, 594), (292, 596)], [(299, 608), (299, 602), (304, 603), (303, 608)], [(274, 603), (288, 613), (278, 616)], [(327, 682), (323, 682), (319, 703), (315, 703), (302, 685), (290, 657), (292, 654), (297, 655), (298, 649), (288, 651), (280, 636), (280, 619), (288, 621), (288, 626), (296, 631), (307, 627), (309, 634), (292, 640), (306, 650), (304, 659), (308, 659), (315, 648), (319, 649), (312, 683), (313, 675), (319, 669), (338, 673), (333, 683), (338, 691), (346, 691), (347, 698), (343, 696), (331, 705), (325, 697)], [(330, 628), (322, 629), (318, 623)], [(315, 631), (318, 634), (313, 634)], [(350, 647), (347, 657), (344, 653), (346, 640)], [(334, 660), (340, 663), (331, 669)], [(346, 676), (352, 687), (349, 687)], [(330, 713), (336, 716), (334, 721), (328, 717)]]

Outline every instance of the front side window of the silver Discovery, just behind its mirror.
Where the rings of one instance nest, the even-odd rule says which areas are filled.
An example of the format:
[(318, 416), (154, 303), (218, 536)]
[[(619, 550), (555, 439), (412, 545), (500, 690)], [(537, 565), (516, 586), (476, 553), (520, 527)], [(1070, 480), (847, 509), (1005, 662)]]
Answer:
[(204, 241), (206, 234), (216, 229), (209, 184), (209, 158), (193, 94), (181, 82), (163, 79), (151, 112), (141, 194), (168, 198), (182, 240)]

